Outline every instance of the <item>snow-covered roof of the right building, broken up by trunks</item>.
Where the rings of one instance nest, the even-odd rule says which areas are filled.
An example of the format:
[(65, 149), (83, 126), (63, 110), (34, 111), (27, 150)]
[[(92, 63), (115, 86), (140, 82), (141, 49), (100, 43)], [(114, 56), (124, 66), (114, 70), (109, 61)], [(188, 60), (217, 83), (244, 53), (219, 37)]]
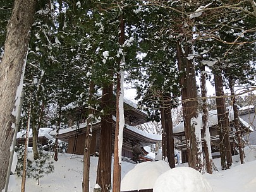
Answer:
[[(233, 121), (234, 120), (234, 111), (233, 111), (233, 107), (227, 107), (227, 111), (229, 111), (229, 116), (228, 119), (229, 121)], [(201, 124), (201, 128), (202, 128), (202, 114), (198, 114), (197, 119), (200, 120), (200, 124)], [(245, 126), (246, 128), (250, 129), (250, 131), (253, 131), (253, 128), (250, 127), (250, 124), (248, 124), (247, 122), (243, 121), (243, 119), (239, 118), (240, 123)], [(216, 124), (218, 124), (218, 118), (217, 118), (217, 110), (213, 110), (213, 111), (209, 111), (209, 119), (208, 119), (208, 124), (209, 127), (214, 126)], [(177, 126), (175, 126), (173, 128), (173, 133), (181, 133), (184, 131), (184, 122), (178, 124)]]

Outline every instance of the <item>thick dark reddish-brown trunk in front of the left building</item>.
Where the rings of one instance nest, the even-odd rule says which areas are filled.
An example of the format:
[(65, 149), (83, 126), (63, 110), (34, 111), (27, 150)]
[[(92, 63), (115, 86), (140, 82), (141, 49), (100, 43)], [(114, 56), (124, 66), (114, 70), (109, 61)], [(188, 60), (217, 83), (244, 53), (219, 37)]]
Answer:
[(102, 192), (111, 189), (112, 126), (113, 126), (113, 85), (102, 88), (101, 143), (97, 168), (97, 184)]

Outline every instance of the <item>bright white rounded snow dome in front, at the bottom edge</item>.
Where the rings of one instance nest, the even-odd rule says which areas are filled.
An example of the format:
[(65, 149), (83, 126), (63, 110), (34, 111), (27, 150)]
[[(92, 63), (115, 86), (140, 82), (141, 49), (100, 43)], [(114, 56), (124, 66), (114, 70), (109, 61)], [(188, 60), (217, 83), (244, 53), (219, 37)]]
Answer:
[(155, 181), (154, 192), (212, 192), (212, 186), (200, 174), (190, 167), (176, 167), (164, 172)]

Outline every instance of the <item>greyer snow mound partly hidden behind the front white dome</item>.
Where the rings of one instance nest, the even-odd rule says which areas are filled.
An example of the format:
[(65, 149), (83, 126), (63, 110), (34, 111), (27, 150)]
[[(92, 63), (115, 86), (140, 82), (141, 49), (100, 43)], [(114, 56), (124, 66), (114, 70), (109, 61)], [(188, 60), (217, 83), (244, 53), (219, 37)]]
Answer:
[(121, 191), (152, 189), (157, 177), (169, 169), (163, 160), (140, 163), (125, 175), (121, 181)]

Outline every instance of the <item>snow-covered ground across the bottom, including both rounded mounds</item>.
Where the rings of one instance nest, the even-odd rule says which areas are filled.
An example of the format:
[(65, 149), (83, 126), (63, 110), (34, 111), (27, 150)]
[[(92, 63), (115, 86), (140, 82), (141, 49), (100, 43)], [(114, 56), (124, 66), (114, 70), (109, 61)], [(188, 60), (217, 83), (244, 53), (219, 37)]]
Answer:
[[(210, 188), (216, 192), (255, 191), (256, 146), (245, 148), (245, 154), (247, 159), (246, 164), (240, 165), (239, 157), (235, 156), (233, 157), (233, 167), (226, 171), (221, 171), (220, 160), (214, 159), (214, 164), (219, 171), (214, 172), (212, 175), (204, 174), (202, 177), (200, 174), (198, 175), (198, 172), (191, 171), (190, 168), (187, 168), (187, 164), (180, 164), (178, 168), (169, 169), (169, 167), (166, 166), (166, 162), (161, 161), (145, 162), (142, 164), (122, 162), (122, 179), (134, 168), (133, 171), (127, 174), (123, 179), (122, 186), (126, 185), (128, 188), (134, 189), (140, 188), (139, 186), (143, 185), (149, 186), (149, 188), (154, 187), (155, 191), (163, 191), (161, 186), (165, 186), (165, 191), (169, 191), (168, 188), (170, 187), (172, 187), (172, 189), (175, 188), (175, 191), (177, 191), (180, 186), (186, 186), (186, 188), (178, 191), (198, 191), (198, 188), (200, 188), (200, 192), (210, 191)], [(92, 189), (95, 186), (97, 172), (97, 158), (91, 157), (90, 160), (90, 191), (93, 191)], [(58, 162), (54, 162), (54, 173), (40, 179), (39, 186), (37, 185), (37, 181), (27, 178), (25, 191), (82, 191), (82, 161), (83, 157), (81, 155), (60, 153)], [(195, 177), (197, 177), (197, 179), (195, 179)], [(133, 179), (133, 182), (131, 179)], [(16, 186), (14, 185), (15, 183)], [(208, 184), (210, 186), (207, 186)], [(20, 185), (21, 178), (12, 176), (8, 191), (20, 191)], [(191, 186), (191, 188), (189, 186)], [(192, 190), (193, 188), (194, 190)]]

